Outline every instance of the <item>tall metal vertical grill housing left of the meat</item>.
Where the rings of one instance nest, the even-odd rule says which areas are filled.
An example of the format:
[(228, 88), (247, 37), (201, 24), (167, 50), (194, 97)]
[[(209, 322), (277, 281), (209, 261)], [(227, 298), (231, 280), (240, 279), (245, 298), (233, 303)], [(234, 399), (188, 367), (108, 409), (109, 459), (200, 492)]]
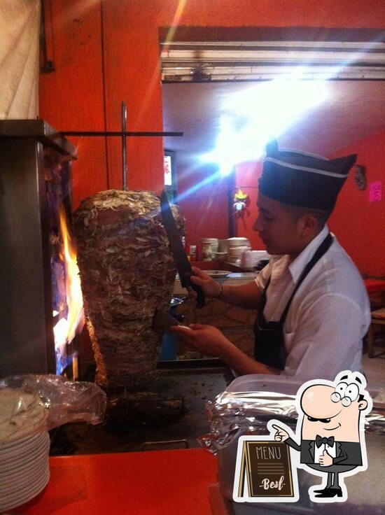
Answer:
[(0, 376), (62, 373), (71, 361), (53, 327), (68, 309), (59, 206), (71, 220), (74, 158), (43, 120), (0, 120)]

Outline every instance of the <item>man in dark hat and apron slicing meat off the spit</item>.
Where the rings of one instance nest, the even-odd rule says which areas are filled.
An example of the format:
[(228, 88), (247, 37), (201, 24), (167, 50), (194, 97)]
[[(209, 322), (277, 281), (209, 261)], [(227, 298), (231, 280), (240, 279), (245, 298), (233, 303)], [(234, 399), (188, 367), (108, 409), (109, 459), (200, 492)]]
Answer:
[(223, 286), (193, 268), (192, 281), (205, 295), (258, 310), (255, 360), (210, 325), (173, 330), (241, 375), (332, 379), (344, 369), (360, 370), (369, 299), (358, 270), (325, 224), (355, 162), (356, 155), (327, 160), (271, 143), (253, 227), (269, 264), (241, 286)]

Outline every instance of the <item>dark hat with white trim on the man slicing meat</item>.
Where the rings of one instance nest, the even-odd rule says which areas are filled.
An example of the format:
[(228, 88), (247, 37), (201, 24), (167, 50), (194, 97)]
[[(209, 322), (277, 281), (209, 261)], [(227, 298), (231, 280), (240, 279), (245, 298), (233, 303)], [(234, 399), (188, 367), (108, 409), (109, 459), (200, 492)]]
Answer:
[(328, 160), (267, 145), (259, 191), (282, 204), (332, 211), (357, 155)]

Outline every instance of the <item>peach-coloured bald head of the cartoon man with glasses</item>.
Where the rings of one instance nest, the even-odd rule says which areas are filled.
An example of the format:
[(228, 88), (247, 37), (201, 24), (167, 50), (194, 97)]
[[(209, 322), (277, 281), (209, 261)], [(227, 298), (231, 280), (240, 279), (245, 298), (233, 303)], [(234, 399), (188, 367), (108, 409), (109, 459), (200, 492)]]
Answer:
[(337, 442), (359, 442), (360, 411), (367, 407), (367, 401), (358, 400), (356, 385), (351, 390), (352, 393), (346, 392), (351, 398), (341, 395), (339, 400), (335, 395), (336, 388), (332, 386), (319, 384), (304, 390), (301, 397), (301, 408), (304, 412), (302, 439), (314, 440), (316, 435), (320, 435), (335, 437)]

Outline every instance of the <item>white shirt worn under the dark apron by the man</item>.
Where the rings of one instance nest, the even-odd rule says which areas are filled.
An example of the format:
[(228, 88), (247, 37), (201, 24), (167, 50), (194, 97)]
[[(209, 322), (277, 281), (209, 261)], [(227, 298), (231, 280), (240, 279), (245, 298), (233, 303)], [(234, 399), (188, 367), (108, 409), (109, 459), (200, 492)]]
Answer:
[[(271, 256), (256, 277), (262, 291), (272, 274), (264, 309), (268, 322), (281, 317), (302, 270), (328, 231), (325, 226), (291, 264), (288, 255)], [(370, 318), (363, 279), (334, 237), (291, 303), (283, 325), (287, 358), (281, 374), (334, 380), (342, 370), (359, 372)]]

